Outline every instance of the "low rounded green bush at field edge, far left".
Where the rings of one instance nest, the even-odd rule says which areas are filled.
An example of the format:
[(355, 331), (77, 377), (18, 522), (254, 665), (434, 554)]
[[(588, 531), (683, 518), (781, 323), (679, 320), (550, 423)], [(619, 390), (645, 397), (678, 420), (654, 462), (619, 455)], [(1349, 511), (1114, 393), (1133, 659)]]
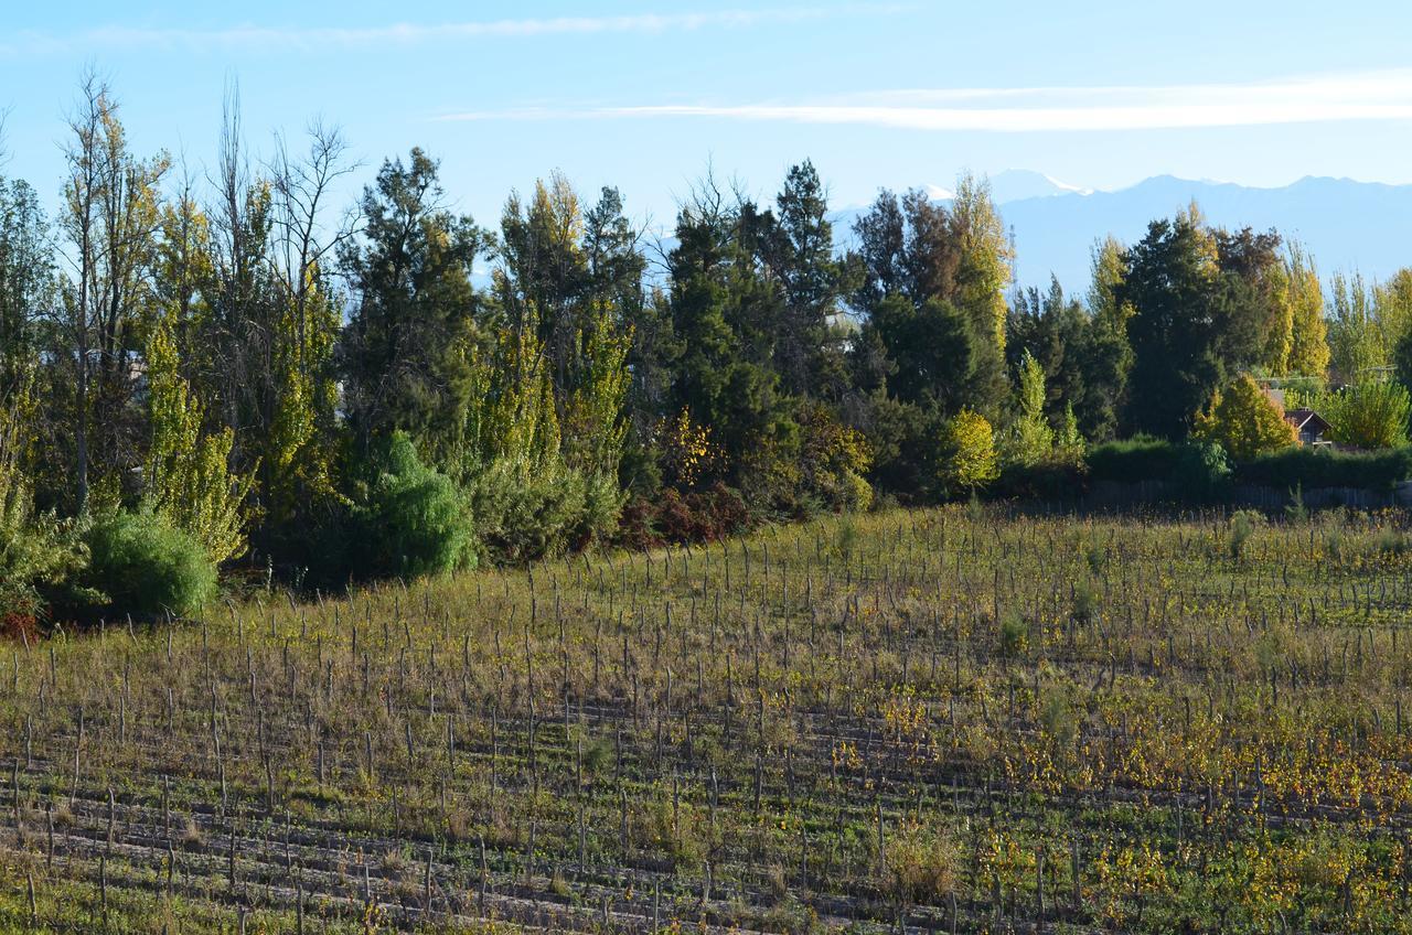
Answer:
[(112, 513), (88, 531), (83, 582), (106, 613), (195, 614), (216, 597), (216, 565), (189, 532), (151, 513)]

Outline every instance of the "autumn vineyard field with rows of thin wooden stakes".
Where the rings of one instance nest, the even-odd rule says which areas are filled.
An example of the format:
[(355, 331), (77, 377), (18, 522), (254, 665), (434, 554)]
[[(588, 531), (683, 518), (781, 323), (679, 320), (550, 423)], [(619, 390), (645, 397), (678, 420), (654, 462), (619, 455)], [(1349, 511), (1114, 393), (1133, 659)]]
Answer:
[(1412, 931), (1402, 514), (882, 511), (0, 645), (0, 931)]

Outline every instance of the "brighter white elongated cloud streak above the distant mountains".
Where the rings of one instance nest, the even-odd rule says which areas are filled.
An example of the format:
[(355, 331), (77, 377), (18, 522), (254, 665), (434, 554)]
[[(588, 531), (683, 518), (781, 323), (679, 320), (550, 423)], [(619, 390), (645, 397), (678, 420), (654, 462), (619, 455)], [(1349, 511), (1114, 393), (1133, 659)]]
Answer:
[(717, 119), (994, 133), (1412, 120), (1412, 69), (1231, 85), (940, 88), (820, 102), (474, 110), (442, 120)]

